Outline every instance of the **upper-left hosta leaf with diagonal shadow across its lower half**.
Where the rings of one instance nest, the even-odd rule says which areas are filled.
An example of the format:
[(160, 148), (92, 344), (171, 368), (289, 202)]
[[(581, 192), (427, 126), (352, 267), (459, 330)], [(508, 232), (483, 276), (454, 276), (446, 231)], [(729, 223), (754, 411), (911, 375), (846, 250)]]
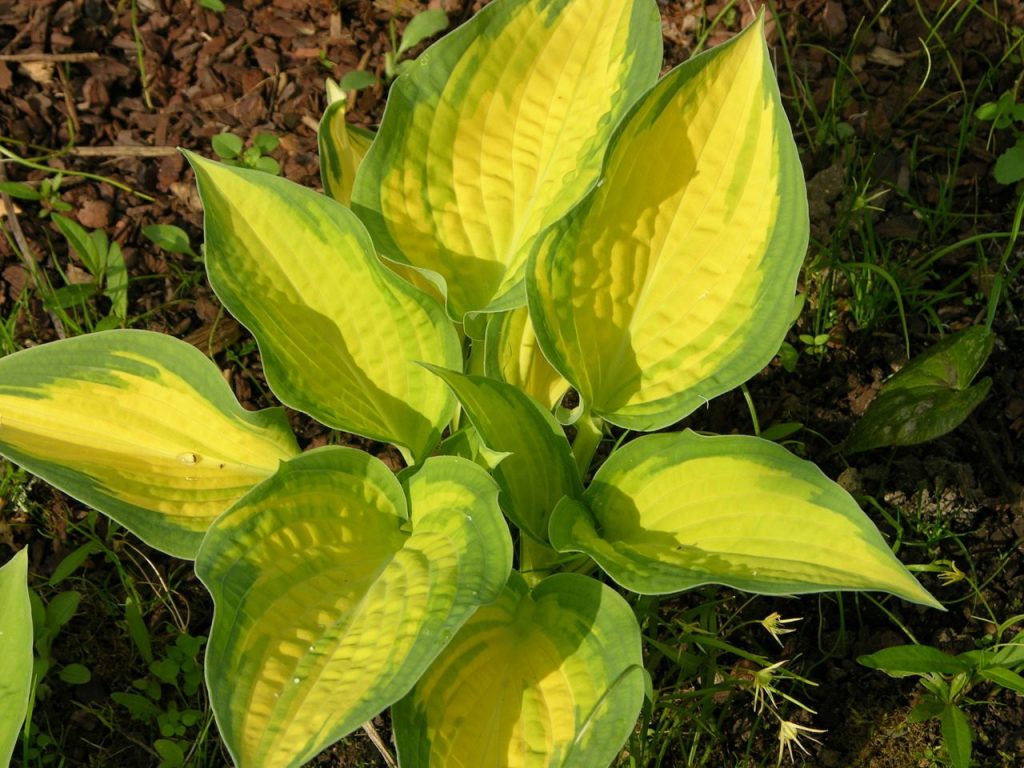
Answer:
[(210, 283), (259, 342), (274, 394), (422, 461), (455, 403), (415, 360), (462, 365), (440, 305), (385, 268), (336, 201), (187, 157), (205, 209)]

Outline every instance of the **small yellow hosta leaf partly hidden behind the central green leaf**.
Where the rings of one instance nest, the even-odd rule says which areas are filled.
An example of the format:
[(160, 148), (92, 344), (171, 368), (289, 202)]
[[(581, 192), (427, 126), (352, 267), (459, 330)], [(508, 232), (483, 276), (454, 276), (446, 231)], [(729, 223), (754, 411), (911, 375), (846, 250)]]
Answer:
[(562, 401), (569, 388), (541, 351), (526, 307), (490, 315), (483, 370), (492, 379), (521, 389), (549, 411)]

